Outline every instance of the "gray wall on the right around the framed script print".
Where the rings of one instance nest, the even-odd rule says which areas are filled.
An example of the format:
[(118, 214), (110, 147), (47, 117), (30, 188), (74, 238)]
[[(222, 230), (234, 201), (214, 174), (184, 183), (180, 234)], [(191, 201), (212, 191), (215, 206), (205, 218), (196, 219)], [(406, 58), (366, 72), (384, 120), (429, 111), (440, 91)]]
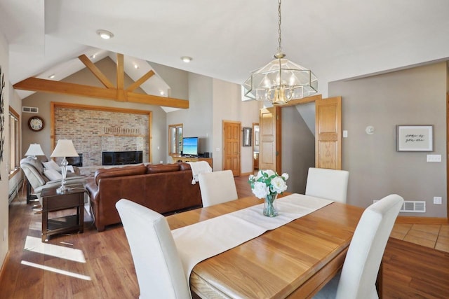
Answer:
[[(402, 216), (445, 217), (446, 83), (445, 62), (389, 74), (329, 84), (329, 96), (342, 96), (342, 169), (349, 170), (348, 203), (368, 207), (397, 193), (425, 200), (427, 212)], [(365, 128), (375, 127), (368, 135)], [(434, 152), (441, 162), (426, 162), (424, 152), (397, 152), (396, 125), (434, 125)], [(433, 197), (443, 197), (434, 204)]]

